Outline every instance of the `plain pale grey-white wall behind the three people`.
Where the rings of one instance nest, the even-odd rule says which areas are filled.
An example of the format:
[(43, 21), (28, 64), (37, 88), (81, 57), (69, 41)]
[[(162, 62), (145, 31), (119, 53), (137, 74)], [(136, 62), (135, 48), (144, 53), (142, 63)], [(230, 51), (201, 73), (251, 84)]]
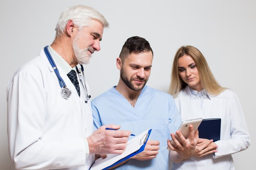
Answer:
[(7, 82), (14, 71), (54, 40), (60, 13), (75, 4), (101, 12), (101, 51), (86, 66), (92, 98), (117, 85), (115, 59), (125, 40), (138, 35), (153, 48), (148, 85), (168, 91), (173, 56), (182, 45), (197, 47), (218, 82), (235, 91), (243, 106), (251, 146), (234, 154), (236, 170), (254, 169), (255, 137), (255, 0), (1, 0), (0, 1), (0, 169), (7, 170)]

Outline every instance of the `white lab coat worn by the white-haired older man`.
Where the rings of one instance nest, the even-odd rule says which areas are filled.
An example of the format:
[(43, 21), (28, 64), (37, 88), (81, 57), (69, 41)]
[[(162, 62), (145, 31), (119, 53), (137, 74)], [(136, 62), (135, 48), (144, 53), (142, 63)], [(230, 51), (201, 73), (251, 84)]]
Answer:
[(11, 170), (88, 170), (94, 162), (94, 155), (87, 159), (85, 155), (85, 139), (93, 125), (90, 100), (85, 104), (81, 84), (80, 98), (60, 68), (59, 73), (72, 91), (68, 99), (61, 97), (58, 79), (43, 50), (16, 71), (8, 84)]

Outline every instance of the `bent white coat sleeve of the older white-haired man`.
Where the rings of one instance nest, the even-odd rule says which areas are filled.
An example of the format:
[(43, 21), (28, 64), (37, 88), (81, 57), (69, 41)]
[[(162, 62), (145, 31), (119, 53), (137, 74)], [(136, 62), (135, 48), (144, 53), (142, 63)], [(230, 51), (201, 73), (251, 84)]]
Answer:
[[(40, 69), (29, 66), (17, 73), (7, 87), (9, 153), (16, 170), (49, 170), (84, 166), (85, 141), (45, 140), (47, 94)], [(49, 101), (48, 101), (49, 102)], [(58, 124), (58, 122), (52, 122)], [(87, 154), (88, 155), (88, 154)]]

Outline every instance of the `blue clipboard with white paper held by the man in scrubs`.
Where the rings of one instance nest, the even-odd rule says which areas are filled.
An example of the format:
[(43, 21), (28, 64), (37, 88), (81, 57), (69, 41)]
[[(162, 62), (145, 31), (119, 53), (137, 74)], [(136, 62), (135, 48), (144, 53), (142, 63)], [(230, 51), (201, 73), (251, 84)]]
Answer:
[(151, 130), (152, 129), (147, 129), (140, 135), (130, 139), (126, 146), (126, 150), (122, 154), (108, 154), (104, 159), (97, 159), (90, 170), (107, 170), (108, 168), (139, 154), (144, 150)]

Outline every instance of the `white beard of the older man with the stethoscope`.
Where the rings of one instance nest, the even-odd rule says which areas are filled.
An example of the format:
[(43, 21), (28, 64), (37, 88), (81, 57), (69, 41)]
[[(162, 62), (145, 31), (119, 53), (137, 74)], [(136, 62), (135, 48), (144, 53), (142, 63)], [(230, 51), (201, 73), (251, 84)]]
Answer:
[(79, 41), (79, 33), (76, 35), (76, 37), (74, 38), (74, 41), (72, 42), (73, 51), (74, 51), (76, 60), (79, 64), (88, 64), (92, 57), (92, 54), (89, 54), (88, 50), (94, 53), (94, 48), (92, 46), (89, 46), (86, 49), (80, 49), (78, 45), (78, 41)]

